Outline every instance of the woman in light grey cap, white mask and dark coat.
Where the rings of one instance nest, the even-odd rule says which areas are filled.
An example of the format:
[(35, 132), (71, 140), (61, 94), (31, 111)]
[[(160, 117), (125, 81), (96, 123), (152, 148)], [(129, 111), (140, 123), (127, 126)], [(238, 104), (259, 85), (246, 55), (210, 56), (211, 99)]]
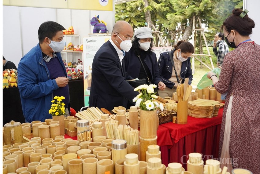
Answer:
[(152, 84), (157, 85), (158, 89), (164, 90), (165, 84), (162, 82), (162, 77), (159, 76), (156, 54), (151, 50), (153, 38), (152, 30), (149, 27), (140, 27), (135, 31), (132, 48), (125, 53), (123, 59), (125, 71), (134, 79), (145, 78), (147, 84), (149, 84), (148, 75)]

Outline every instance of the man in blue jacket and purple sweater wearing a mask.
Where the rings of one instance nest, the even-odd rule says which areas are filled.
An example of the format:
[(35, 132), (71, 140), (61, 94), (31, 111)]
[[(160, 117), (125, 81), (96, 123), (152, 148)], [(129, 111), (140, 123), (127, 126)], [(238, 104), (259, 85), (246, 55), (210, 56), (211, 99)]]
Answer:
[(64, 96), (69, 114), (69, 78), (67, 78), (61, 51), (63, 32), (57, 22), (46, 21), (38, 30), (39, 43), (18, 64), (18, 88), (26, 122), (52, 118), (49, 114), (54, 96)]

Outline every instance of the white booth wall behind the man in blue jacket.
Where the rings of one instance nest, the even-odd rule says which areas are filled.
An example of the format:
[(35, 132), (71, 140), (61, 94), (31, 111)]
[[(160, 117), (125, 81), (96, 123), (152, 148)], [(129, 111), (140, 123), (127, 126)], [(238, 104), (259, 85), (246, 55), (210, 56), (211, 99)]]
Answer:
[[(107, 23), (107, 29), (111, 33), (113, 28), (113, 11), (48, 9), (3, 5), (3, 55), (18, 67), (20, 59), (38, 44), (39, 26), (47, 20), (58, 22), (66, 29), (73, 26), (75, 34), (80, 35), (80, 42), (82, 43), (82, 38), (89, 36), (88, 34), (93, 31), (90, 20), (95, 15), (99, 15), (99, 19)], [(68, 56), (72, 56), (72, 54)], [(77, 60), (79, 54), (75, 54), (75, 56)]]

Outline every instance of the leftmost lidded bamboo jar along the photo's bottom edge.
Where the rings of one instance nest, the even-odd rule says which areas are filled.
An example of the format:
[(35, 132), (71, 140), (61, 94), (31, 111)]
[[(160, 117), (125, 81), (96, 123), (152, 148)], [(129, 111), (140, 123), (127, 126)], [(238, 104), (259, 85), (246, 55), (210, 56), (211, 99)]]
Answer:
[(137, 154), (126, 154), (124, 161), (124, 173), (125, 174), (139, 174), (140, 173), (140, 161), (138, 161)]

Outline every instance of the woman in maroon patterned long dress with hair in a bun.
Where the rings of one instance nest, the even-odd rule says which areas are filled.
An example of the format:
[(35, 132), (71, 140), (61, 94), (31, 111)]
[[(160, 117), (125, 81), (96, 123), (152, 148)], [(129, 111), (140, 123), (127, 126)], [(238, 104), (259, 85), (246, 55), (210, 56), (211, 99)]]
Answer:
[(247, 12), (233, 9), (222, 27), (227, 44), (236, 49), (226, 54), (219, 79), (207, 74), (216, 90), (226, 93), (219, 157), (232, 161), (221, 164), (228, 171), (233, 167), (260, 173), (260, 45), (249, 37), (254, 25)]

